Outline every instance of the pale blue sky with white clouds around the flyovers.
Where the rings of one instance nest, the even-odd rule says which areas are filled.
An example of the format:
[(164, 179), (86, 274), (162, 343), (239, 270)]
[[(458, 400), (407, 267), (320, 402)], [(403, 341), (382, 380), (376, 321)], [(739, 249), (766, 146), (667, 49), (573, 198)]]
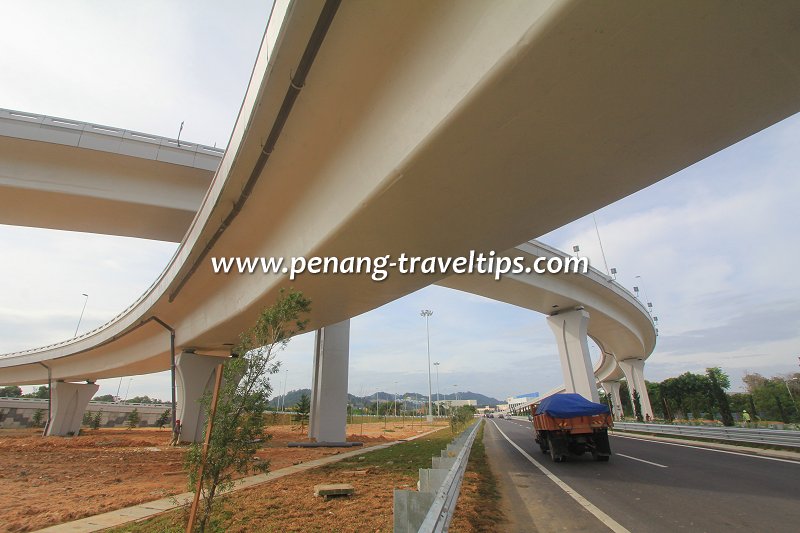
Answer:
[[(0, 107), (224, 147), (270, 1), (0, 0)], [(648, 380), (720, 366), (797, 371), (800, 356), (800, 116), (539, 237), (574, 245), (659, 319)], [(0, 353), (71, 338), (147, 289), (174, 243), (0, 225)], [(82, 296), (88, 294), (88, 298)], [(86, 303), (81, 318), (81, 310)], [(562, 383), (545, 316), (428, 287), (351, 321), (350, 392), (432, 388), (498, 399)], [(276, 392), (310, 388), (313, 334), (281, 355)], [(593, 358), (599, 355), (590, 345)], [(438, 385), (437, 385), (438, 381)], [(169, 374), (100, 380), (98, 394), (169, 397)], [(31, 387), (24, 387), (27, 392)]]

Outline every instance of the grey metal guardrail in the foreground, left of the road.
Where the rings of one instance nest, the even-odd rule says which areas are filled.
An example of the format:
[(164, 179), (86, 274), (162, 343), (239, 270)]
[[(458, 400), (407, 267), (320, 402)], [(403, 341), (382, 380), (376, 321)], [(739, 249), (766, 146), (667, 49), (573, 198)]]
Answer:
[(418, 491), (394, 491), (395, 533), (447, 531), (453, 519), (467, 459), (480, 427), (480, 420), (464, 431), (432, 459), (433, 468), (420, 468)]

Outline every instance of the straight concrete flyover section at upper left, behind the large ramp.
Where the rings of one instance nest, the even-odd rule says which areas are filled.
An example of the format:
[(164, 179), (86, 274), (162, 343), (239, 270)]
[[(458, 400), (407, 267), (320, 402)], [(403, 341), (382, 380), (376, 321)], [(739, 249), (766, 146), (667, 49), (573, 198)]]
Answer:
[(0, 109), (0, 224), (179, 242), (223, 153)]

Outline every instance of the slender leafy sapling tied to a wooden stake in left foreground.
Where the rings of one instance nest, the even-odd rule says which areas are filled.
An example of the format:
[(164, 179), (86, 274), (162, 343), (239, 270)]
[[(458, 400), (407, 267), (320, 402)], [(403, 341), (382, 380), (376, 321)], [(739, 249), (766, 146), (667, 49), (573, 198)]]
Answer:
[[(185, 461), (193, 491), (197, 490), (200, 479), (203, 501), (197, 529), (201, 532), (213, 526), (210, 518), (214, 497), (220, 490), (233, 486), (235, 472), (246, 475), (252, 470), (269, 470), (268, 461), (252, 461), (260, 443), (270, 438), (265, 430), (265, 410), (272, 392), (269, 374), (278, 372), (276, 354), (292, 336), (305, 329), (308, 321), (300, 317), (310, 309), (311, 302), (301, 293), (281, 291), (275, 304), (258, 317), (256, 325), (240, 336), (233, 351), (239, 356), (225, 364), (205, 458), (202, 446), (193, 444)], [(210, 417), (211, 393), (206, 393), (201, 402)]]

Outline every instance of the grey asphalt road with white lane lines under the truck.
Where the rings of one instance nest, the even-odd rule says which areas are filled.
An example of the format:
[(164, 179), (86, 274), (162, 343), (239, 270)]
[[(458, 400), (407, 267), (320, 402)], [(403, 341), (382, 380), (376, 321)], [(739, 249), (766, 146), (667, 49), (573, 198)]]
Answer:
[(607, 463), (554, 463), (521, 420), (487, 420), (484, 443), (508, 531), (800, 531), (800, 462), (614, 436)]

